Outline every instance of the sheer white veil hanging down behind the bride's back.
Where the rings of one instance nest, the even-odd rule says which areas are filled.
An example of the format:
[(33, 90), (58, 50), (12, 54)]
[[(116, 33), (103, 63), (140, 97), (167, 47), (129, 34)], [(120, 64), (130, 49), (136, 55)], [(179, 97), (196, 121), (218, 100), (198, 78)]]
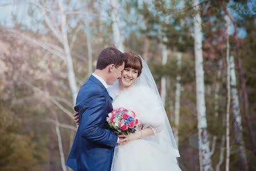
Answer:
[[(141, 56), (139, 56), (141, 57)], [(165, 112), (164, 105), (162, 104), (161, 97), (159, 95), (159, 92), (157, 90), (157, 85), (156, 82), (154, 81), (154, 78), (152, 76), (152, 73), (149, 70), (148, 65), (146, 62), (142, 59), (142, 72), (141, 75), (136, 79), (134, 85), (145, 85), (149, 88), (151, 88), (157, 95), (157, 101), (159, 101), (161, 104), (161, 113), (164, 113), (164, 118), (165, 118), (165, 125), (161, 128), (161, 132), (157, 133), (156, 136), (150, 136), (148, 139), (151, 141), (156, 141), (160, 143), (162, 146), (165, 146), (168, 148), (168, 150), (172, 150), (174, 152), (175, 157), (180, 157), (180, 153), (178, 150), (178, 147), (176, 145), (176, 141), (174, 139), (173, 133), (172, 133), (172, 128), (170, 127), (170, 123), (168, 120), (168, 117)]]

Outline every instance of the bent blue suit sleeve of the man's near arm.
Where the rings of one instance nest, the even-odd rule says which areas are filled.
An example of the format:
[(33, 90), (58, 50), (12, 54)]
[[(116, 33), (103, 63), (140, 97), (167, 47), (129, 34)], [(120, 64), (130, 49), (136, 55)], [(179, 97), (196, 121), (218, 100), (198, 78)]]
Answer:
[(98, 94), (94, 95), (92, 99), (88, 99), (87, 102), (80, 125), (82, 137), (102, 145), (115, 147), (117, 135), (99, 127), (100, 122), (106, 121), (106, 98)]

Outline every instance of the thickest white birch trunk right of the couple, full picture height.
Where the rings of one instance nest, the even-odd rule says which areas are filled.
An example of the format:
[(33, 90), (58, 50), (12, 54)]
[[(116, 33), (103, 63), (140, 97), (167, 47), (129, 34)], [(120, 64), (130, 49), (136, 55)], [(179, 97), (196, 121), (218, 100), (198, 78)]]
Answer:
[(210, 142), (207, 133), (207, 120), (205, 115), (205, 98), (204, 98), (204, 69), (203, 69), (203, 51), (202, 51), (202, 32), (201, 17), (199, 14), (198, 0), (194, 1), (196, 5), (196, 14), (193, 17), (194, 38), (195, 38), (195, 69), (196, 69), (196, 108), (198, 118), (199, 132), (199, 156), (201, 156), (200, 166), (205, 170), (212, 170)]

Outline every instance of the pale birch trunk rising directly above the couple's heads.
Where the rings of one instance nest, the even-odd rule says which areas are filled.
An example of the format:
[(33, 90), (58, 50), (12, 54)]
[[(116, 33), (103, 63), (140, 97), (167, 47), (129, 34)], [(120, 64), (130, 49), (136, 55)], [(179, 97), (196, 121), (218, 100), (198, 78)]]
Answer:
[(112, 19), (112, 29), (113, 29), (113, 38), (114, 38), (114, 45), (118, 48), (121, 52), (125, 52), (125, 48), (123, 48), (123, 42), (120, 36), (120, 29), (119, 29), (119, 10), (118, 10), (118, 1), (111, 0), (111, 19)]

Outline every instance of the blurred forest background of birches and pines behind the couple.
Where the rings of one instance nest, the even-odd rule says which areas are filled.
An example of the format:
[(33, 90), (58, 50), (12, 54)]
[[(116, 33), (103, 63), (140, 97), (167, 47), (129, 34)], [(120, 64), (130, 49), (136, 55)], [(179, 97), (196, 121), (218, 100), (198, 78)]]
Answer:
[(254, 0), (0, 1), (0, 170), (69, 170), (100, 51), (148, 63), (182, 170), (255, 170)]

